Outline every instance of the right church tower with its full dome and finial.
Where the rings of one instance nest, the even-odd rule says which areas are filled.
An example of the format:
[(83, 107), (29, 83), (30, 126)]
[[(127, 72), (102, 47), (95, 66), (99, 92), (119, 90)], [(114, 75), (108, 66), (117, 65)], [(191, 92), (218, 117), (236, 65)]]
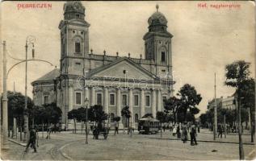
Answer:
[(164, 14), (158, 11), (153, 13), (148, 20), (149, 31), (144, 35), (145, 40), (145, 60), (153, 60), (154, 70), (157, 76), (171, 75), (172, 54), (171, 35), (167, 31), (167, 20)]

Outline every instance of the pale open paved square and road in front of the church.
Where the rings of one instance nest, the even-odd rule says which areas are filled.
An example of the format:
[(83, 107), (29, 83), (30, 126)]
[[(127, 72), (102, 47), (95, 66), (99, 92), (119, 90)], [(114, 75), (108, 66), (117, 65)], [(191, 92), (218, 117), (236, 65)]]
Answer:
[[(109, 134), (107, 140), (100, 136), (99, 140), (92, 139), (89, 135), (89, 144), (85, 142), (84, 134), (57, 133), (52, 134), (51, 139), (42, 139), (38, 147), (38, 153), (30, 150), (24, 155), (21, 147), (10, 143), (11, 150), (5, 152), (3, 159), (23, 160), (64, 160), (64, 159), (238, 159), (237, 143), (199, 142), (197, 146), (183, 143), (180, 140), (158, 139), (160, 134), (141, 135)], [(163, 138), (174, 138), (170, 132), (165, 132)], [(212, 134), (202, 131), (200, 139), (211, 139)], [(236, 135), (229, 135), (231, 142), (236, 141)], [(250, 136), (245, 136), (245, 141)], [(245, 154), (255, 155), (254, 146), (244, 145)], [(212, 152), (215, 151), (215, 152)], [(252, 152), (253, 151), (253, 152)], [(247, 159), (250, 159), (247, 157)]]

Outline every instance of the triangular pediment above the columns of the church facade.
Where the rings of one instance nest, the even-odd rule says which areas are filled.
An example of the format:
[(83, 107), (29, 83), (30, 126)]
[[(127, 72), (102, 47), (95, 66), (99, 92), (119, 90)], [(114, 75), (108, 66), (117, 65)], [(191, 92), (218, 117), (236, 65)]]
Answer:
[(111, 64), (96, 68), (90, 72), (91, 77), (108, 77), (120, 79), (152, 80), (153, 73), (134, 63), (128, 58), (120, 58)]

